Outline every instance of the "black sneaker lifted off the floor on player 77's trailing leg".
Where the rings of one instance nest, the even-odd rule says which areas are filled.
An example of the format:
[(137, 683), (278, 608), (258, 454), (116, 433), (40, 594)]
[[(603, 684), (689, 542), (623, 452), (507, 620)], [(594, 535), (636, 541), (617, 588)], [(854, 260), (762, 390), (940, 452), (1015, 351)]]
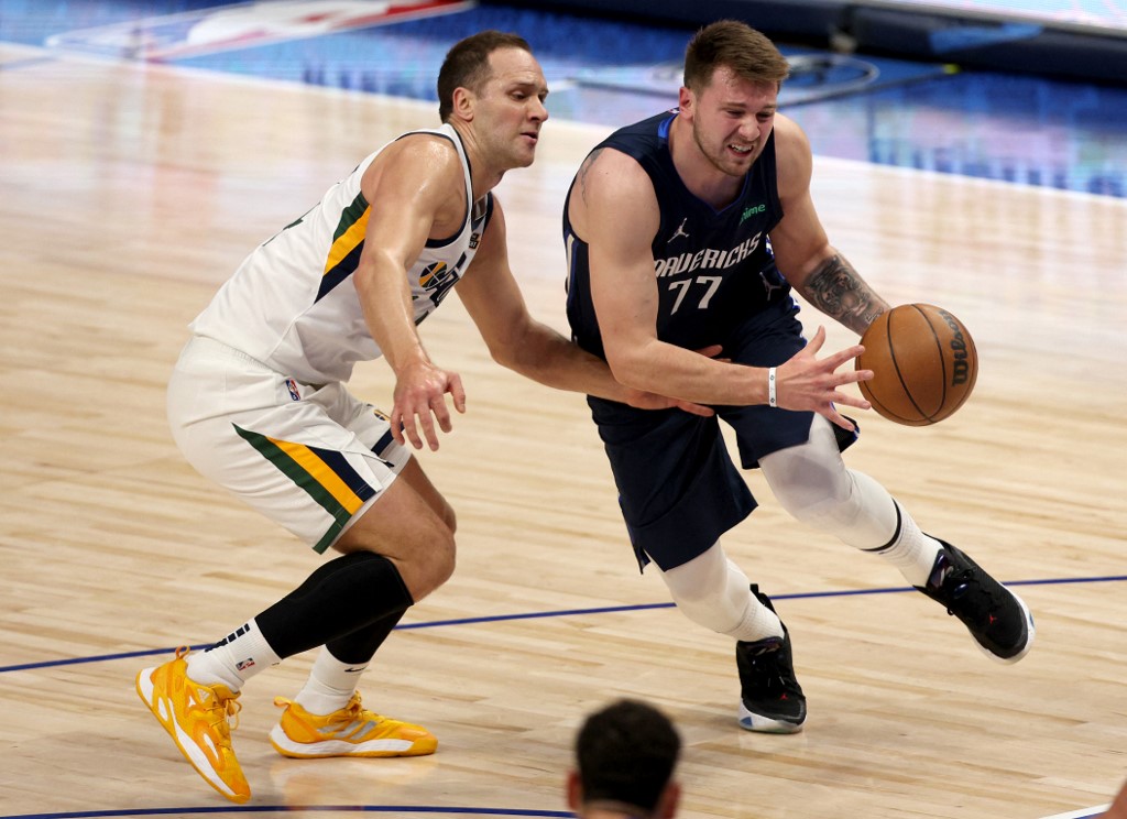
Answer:
[(978, 563), (940, 541), (925, 586), (917, 589), (947, 606), (970, 631), (979, 648), (1002, 662), (1017, 662), (1033, 644), (1033, 617), (1015, 594), (983, 570)]

